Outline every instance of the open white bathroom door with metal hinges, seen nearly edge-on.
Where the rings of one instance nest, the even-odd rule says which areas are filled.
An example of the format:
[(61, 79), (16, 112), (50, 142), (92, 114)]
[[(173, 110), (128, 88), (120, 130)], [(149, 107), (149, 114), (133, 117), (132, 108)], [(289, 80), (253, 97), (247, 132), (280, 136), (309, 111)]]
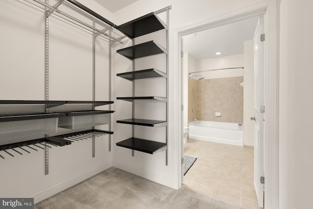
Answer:
[(264, 176), (264, 17), (259, 18), (254, 32), (254, 187), (260, 207), (263, 207), (264, 185), (260, 183)]

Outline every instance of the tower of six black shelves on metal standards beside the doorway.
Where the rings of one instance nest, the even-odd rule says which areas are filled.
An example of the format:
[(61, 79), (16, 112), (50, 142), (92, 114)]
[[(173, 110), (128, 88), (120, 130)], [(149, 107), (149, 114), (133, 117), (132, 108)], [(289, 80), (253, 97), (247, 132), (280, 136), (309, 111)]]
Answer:
[[(133, 71), (119, 73), (117, 76), (125, 78), (127, 80), (133, 81), (132, 97), (117, 97), (117, 99), (122, 99), (126, 101), (131, 101), (133, 103), (133, 117), (131, 119), (117, 120), (117, 123), (132, 124), (132, 138), (125, 139), (123, 141), (117, 142), (117, 146), (132, 149), (132, 156), (134, 156), (134, 150), (145, 152), (149, 154), (154, 154), (159, 151), (166, 151), (166, 165), (168, 165), (168, 70), (169, 70), (169, 10), (171, 6), (160, 9), (156, 12), (152, 12), (140, 18), (137, 18), (128, 23), (117, 26), (116, 28), (127, 35), (133, 41), (133, 46), (119, 49), (116, 52), (125, 56), (126, 58), (133, 61)], [(166, 12), (166, 23), (163, 23), (157, 14)], [(162, 29), (166, 29), (166, 48), (163, 48), (154, 41), (149, 41), (139, 45), (134, 45), (134, 39), (152, 32), (156, 32)], [(154, 54), (165, 53), (166, 54), (166, 73), (161, 72), (156, 69), (147, 70), (134, 70), (134, 59), (150, 56)], [(156, 97), (156, 96), (145, 96), (145, 97), (134, 97), (134, 80), (142, 78), (152, 78), (152, 77), (164, 77), (166, 78), (166, 97)], [(136, 99), (157, 99), (167, 102), (166, 105), (166, 121), (157, 120), (144, 120), (134, 118), (134, 100)], [(141, 126), (166, 126), (166, 142), (156, 142), (147, 139), (137, 139), (134, 138), (134, 125)]]

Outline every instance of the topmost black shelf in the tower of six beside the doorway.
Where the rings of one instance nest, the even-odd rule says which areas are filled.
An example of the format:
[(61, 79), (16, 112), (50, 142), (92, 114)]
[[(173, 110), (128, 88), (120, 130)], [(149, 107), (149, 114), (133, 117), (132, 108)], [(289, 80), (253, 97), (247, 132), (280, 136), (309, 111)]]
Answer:
[(157, 18), (154, 12), (116, 27), (116, 29), (132, 39), (165, 28), (165, 24)]

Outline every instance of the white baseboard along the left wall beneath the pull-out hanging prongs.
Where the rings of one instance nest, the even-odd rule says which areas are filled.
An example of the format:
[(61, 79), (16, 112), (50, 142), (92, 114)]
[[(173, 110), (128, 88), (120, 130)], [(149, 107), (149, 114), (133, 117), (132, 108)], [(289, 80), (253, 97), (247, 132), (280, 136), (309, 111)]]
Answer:
[(74, 176), (72, 178), (69, 178), (63, 182), (59, 182), (57, 184), (54, 184), (53, 186), (49, 186), (49, 187), (46, 187), (40, 191), (37, 191), (33, 194), (30, 194), (28, 195), (28, 197), (32, 197), (34, 198), (34, 204), (40, 202), (40, 201), (43, 201), (45, 200), (46, 198), (48, 197), (51, 197), (71, 186), (74, 186), (110, 167), (112, 167), (112, 161), (111, 162), (107, 162), (107, 163), (103, 163), (103, 164), (100, 164), (94, 168), (91, 168), (83, 173), (80, 173), (79, 175), (77, 176)]

